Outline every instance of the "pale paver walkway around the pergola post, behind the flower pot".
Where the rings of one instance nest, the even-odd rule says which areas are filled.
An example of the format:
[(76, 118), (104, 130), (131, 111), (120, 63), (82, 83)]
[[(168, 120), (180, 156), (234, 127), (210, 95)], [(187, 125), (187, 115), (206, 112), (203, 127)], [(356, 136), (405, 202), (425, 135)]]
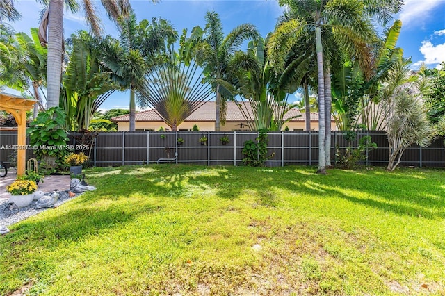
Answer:
[[(9, 198), (9, 193), (6, 191), (6, 186), (13, 183), (17, 174), (15, 171), (8, 171), (8, 175), (4, 178), (0, 178), (0, 199)], [(64, 176), (45, 176), (43, 183), (38, 185), (39, 190), (43, 192), (51, 192), (54, 189), (59, 191), (70, 189), (70, 175)]]

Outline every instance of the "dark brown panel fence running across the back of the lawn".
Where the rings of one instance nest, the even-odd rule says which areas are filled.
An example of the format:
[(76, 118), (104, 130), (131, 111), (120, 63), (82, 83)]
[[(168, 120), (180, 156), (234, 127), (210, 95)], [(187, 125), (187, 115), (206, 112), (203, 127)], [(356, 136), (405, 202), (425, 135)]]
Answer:
[[(207, 136), (207, 145), (198, 141)], [(229, 143), (223, 145), (220, 138), (226, 135)], [(387, 135), (382, 131), (364, 131), (348, 143), (341, 131), (332, 132), (332, 160), (335, 162), (335, 147), (357, 147), (359, 138), (371, 135), (378, 149), (370, 151), (366, 165), (387, 165), (389, 148)], [(140, 165), (157, 163), (160, 158), (172, 159), (163, 161), (169, 163), (193, 163), (201, 165), (240, 165), (243, 159), (241, 153), (246, 140), (254, 140), (257, 133), (233, 132), (108, 132), (99, 133), (91, 151), (91, 164), (94, 166)], [(82, 148), (76, 143), (76, 134), (70, 134), (70, 145)], [(177, 144), (177, 138), (184, 139), (182, 145)], [(0, 160), (8, 163), (8, 156), (17, 145), (17, 133), (14, 131), (0, 132)], [(33, 147), (27, 150), (27, 158), (33, 157)], [(175, 158), (177, 153), (177, 158)], [(284, 165), (317, 165), (318, 164), (318, 132), (294, 131), (268, 133), (268, 155), (272, 155), (268, 166)], [(402, 157), (402, 165), (414, 167), (444, 167), (444, 138), (437, 138), (429, 147), (422, 148), (412, 145), (407, 148)]]

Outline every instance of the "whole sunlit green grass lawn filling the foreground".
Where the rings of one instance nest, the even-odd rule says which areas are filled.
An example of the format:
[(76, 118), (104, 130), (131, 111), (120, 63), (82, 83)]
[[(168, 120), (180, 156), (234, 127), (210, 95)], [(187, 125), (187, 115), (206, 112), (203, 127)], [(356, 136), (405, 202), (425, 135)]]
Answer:
[(149, 165), (0, 237), (0, 295), (444, 295), (445, 171)]

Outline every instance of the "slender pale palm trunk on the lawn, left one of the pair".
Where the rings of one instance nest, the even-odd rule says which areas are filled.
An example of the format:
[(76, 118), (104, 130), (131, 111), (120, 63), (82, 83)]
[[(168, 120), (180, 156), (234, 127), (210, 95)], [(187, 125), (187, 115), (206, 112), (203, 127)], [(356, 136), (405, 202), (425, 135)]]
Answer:
[(321, 44), (321, 28), (315, 28), (317, 70), (318, 70), (318, 174), (326, 174), (325, 153), (325, 81), (323, 72), (323, 46)]

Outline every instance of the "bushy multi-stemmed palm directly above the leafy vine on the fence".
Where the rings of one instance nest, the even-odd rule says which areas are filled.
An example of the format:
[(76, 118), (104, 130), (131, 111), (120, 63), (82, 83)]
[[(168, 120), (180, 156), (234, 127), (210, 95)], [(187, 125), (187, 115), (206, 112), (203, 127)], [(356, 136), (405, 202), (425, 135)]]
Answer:
[(233, 96), (240, 94), (242, 100), (250, 103), (252, 114), (245, 108), (245, 104), (235, 101), (250, 129), (255, 131), (281, 130), (286, 122), (284, 115), (295, 106), (287, 103), (289, 93), (296, 91), (310, 63), (309, 58), (305, 56), (296, 59), (290, 57), (291, 63), (286, 63), (282, 72), (275, 72), (266, 51), (269, 38), (270, 34), (266, 40), (258, 38), (249, 42), (248, 55), (254, 63), (248, 70), (240, 70), (237, 73), (233, 81), (234, 86), (227, 81), (218, 81), (232, 92)]

